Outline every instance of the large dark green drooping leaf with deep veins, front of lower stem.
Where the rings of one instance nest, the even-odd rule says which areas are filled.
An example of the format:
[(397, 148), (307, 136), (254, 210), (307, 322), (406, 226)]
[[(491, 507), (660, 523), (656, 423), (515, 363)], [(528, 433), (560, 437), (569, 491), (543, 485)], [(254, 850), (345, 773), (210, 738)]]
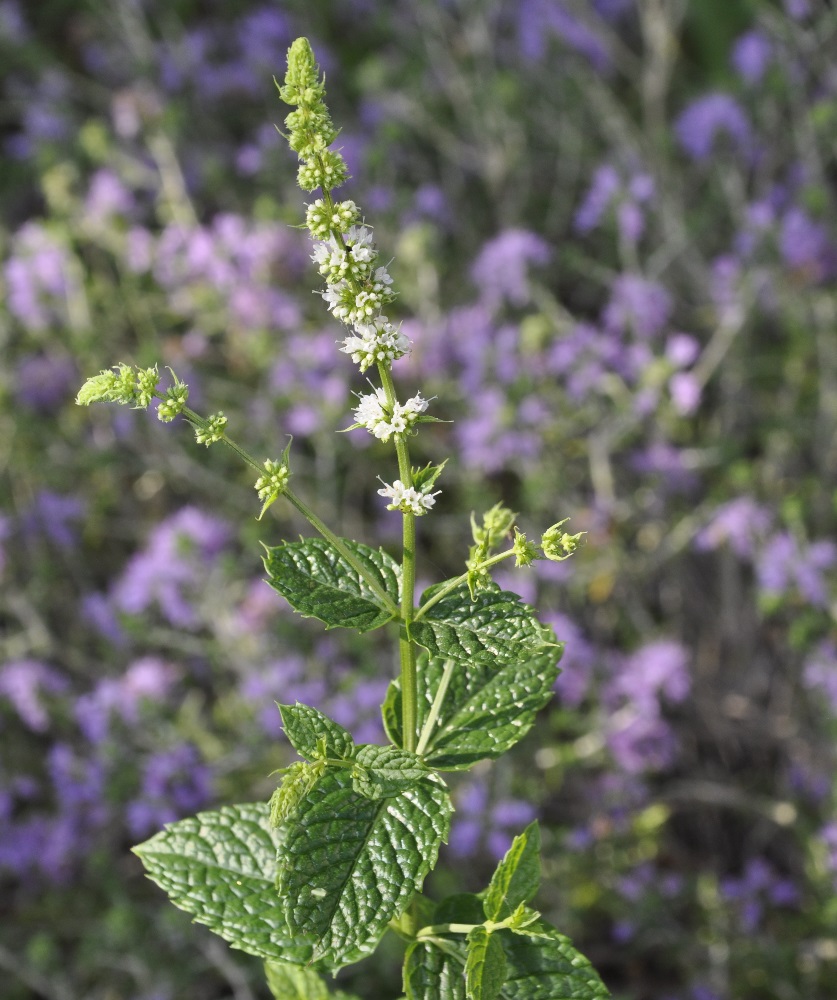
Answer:
[(291, 932), (334, 968), (369, 954), (435, 865), (451, 811), (439, 779), (372, 800), (348, 770), (327, 770), (278, 831)]

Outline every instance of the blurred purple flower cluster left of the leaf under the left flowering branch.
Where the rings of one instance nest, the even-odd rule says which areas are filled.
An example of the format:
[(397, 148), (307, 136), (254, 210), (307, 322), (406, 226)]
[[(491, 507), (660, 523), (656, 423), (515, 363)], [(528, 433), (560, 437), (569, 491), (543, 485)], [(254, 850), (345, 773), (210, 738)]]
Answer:
[(114, 584), (116, 607), (136, 615), (156, 603), (172, 625), (194, 628), (198, 618), (190, 596), (229, 535), (226, 522), (195, 507), (184, 507), (162, 521)]

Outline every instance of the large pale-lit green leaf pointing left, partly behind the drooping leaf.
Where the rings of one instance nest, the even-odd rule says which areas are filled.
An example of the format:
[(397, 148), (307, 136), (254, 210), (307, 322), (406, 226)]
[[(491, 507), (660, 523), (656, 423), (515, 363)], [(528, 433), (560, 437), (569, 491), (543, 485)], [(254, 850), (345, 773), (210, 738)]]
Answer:
[(266, 803), (224, 806), (172, 823), (134, 848), (149, 878), (175, 906), (234, 948), (307, 962), (276, 896), (276, 838)]

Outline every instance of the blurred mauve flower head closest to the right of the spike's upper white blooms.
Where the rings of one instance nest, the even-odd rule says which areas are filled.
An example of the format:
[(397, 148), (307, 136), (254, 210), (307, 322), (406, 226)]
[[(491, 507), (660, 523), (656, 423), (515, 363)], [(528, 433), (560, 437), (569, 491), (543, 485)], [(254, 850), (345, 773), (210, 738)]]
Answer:
[(471, 277), (489, 309), (505, 298), (511, 305), (529, 301), (528, 269), (549, 260), (550, 248), (525, 229), (507, 229), (489, 240), (471, 267)]

